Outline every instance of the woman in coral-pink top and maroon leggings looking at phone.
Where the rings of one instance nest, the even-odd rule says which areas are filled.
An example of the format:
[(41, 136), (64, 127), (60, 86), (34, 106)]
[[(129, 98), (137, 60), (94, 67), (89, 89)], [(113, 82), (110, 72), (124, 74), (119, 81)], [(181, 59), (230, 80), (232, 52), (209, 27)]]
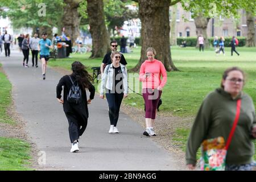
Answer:
[(139, 71), (139, 81), (142, 81), (142, 95), (146, 105), (146, 131), (143, 135), (156, 136), (154, 131), (156, 107), (167, 81), (167, 73), (163, 63), (155, 59), (154, 48), (148, 47), (146, 53), (147, 60), (142, 63)]

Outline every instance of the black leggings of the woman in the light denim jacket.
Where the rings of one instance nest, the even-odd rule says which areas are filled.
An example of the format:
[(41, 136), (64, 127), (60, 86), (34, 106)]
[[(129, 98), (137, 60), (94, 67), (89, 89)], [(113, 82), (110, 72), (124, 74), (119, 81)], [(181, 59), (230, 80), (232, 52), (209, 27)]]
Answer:
[(123, 100), (123, 93), (110, 93), (110, 90), (107, 90), (106, 99), (109, 104), (110, 125), (117, 126), (117, 121), (119, 118), (119, 110)]

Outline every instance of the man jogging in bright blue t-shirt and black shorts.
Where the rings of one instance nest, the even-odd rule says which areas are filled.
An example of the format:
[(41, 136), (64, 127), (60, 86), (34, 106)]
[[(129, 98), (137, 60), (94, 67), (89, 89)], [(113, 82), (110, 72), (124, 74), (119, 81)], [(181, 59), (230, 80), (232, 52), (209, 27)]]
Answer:
[(38, 43), (38, 51), (40, 51), (40, 60), (42, 61), (43, 80), (46, 80), (46, 68), (49, 60), (49, 49), (52, 48), (51, 40), (47, 39), (47, 33), (42, 34), (42, 38)]

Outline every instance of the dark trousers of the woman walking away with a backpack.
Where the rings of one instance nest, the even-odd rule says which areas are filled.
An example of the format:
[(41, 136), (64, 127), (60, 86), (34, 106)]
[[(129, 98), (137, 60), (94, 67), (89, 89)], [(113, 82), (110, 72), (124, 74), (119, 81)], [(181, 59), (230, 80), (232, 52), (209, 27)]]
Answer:
[(84, 133), (88, 118), (85, 117), (84, 114), (80, 115), (78, 113), (65, 113), (68, 119), (68, 132), (69, 132), (69, 139), (71, 143), (75, 140), (79, 139), (79, 137)]

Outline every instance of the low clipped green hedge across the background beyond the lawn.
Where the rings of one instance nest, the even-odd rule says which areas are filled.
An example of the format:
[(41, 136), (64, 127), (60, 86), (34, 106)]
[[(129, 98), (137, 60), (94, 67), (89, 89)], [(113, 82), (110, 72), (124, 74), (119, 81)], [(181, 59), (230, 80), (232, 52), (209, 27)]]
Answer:
[[(120, 36), (118, 36), (118, 37), (115, 37), (115, 38), (110, 38), (111, 40), (117, 40), (117, 43), (120, 45), (121, 44), (121, 37)], [(127, 40), (128, 38), (126, 38), (126, 40)], [(135, 38), (135, 44), (137, 44), (137, 46), (140, 46), (141, 44), (140, 44), (140, 40), (141, 38)], [(209, 43), (210, 43), (210, 45), (213, 47), (213, 37), (210, 37), (210, 38), (208, 38), (208, 40), (209, 40)], [(242, 37), (242, 36), (239, 36), (239, 37), (237, 37), (237, 39), (238, 39), (238, 41), (239, 41), (239, 44), (238, 44), (238, 47), (243, 47), (243, 46), (245, 46), (245, 44), (246, 44), (246, 37)], [(186, 43), (187, 43), (187, 46), (188, 47), (196, 47), (196, 43), (197, 43), (197, 38), (196, 37), (187, 37), (187, 38), (177, 38), (177, 45), (181, 45), (181, 42), (182, 41), (186, 41)], [(225, 37), (225, 42), (224, 42), (224, 46), (225, 47), (230, 47), (230, 42), (231, 42), (231, 40), (232, 40), (232, 37)]]

